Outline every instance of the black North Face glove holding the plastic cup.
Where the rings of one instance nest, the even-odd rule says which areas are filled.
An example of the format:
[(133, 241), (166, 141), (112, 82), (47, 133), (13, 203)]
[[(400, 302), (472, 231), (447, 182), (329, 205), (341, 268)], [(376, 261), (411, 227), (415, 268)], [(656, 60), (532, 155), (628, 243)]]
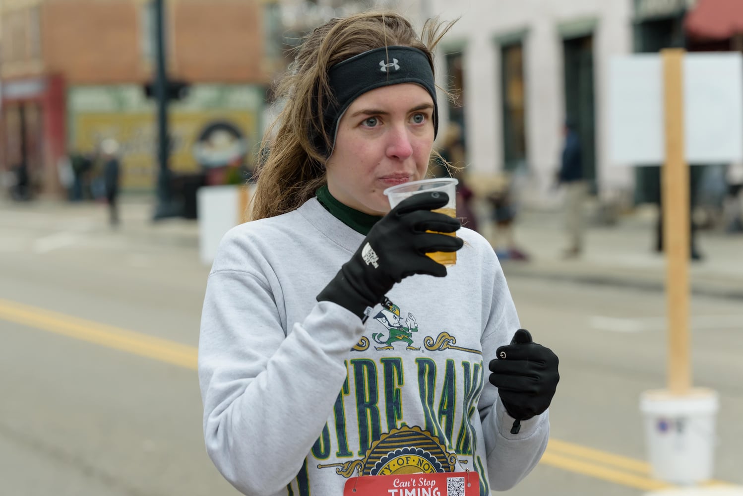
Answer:
[(333, 301), (366, 319), (366, 309), (380, 303), (403, 278), (413, 274), (447, 275), (447, 268), (426, 252), (454, 252), (462, 247), (461, 238), (438, 234), (455, 232), (461, 222), (431, 212), (448, 201), (446, 193), (426, 192), (398, 203), (374, 224), (351, 260), (317, 295), (317, 301)]

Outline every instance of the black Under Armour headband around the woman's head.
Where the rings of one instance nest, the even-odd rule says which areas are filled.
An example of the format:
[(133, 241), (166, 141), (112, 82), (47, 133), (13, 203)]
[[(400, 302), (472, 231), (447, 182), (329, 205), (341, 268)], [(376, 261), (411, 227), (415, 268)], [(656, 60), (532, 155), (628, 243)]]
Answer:
[(422, 50), (412, 47), (374, 48), (343, 62), (338, 62), (328, 71), (331, 91), (337, 105), (328, 102), (322, 111), (325, 120), (325, 132), (332, 133), (331, 149), (325, 150), (325, 144), (319, 144), (325, 157), (329, 157), (337, 134), (338, 121), (343, 113), (367, 91), (382, 86), (399, 85), (403, 82), (414, 82), (426, 88), (433, 99), (433, 136), (438, 132), (438, 105), (436, 104), (436, 87), (433, 70), (428, 56)]

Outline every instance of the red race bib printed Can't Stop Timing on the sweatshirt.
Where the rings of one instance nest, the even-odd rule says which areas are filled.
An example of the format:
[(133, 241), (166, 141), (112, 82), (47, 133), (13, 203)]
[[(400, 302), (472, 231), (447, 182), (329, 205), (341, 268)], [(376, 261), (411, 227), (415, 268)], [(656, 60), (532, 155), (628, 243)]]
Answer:
[(345, 481), (343, 496), (480, 496), (477, 472), (367, 475)]

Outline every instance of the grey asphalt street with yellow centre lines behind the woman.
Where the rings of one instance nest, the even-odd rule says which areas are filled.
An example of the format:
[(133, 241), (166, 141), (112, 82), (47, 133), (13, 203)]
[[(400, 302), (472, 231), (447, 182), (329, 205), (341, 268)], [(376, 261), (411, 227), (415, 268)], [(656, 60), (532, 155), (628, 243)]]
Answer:
[[(204, 450), (196, 346), (208, 267), (189, 221), (103, 206), (0, 209), (0, 493), (236, 495)], [(513, 271), (522, 326), (560, 358), (551, 443), (510, 495), (642, 495), (639, 397), (666, 385), (661, 291)], [(692, 298), (695, 385), (718, 391), (713, 483), (743, 485), (743, 306)]]

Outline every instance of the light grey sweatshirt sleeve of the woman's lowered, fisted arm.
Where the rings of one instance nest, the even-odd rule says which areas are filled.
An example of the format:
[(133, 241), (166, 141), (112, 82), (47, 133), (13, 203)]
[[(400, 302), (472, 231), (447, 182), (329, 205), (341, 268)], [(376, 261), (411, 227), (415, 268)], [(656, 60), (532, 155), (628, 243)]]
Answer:
[(519, 434), (510, 434), (515, 419), (507, 414), (499, 397), (498, 388), (488, 380), (490, 376), (488, 364), (490, 360), (496, 358), (496, 349), (507, 345), (513, 338), (513, 333), (520, 327), (503, 270), (497, 260), (495, 263), (497, 267), (493, 301), (482, 334), (485, 376), (478, 411), (487, 452), (490, 489), (505, 491), (516, 486), (539, 463), (547, 447), (549, 414), (545, 411), (538, 417), (523, 420)]

